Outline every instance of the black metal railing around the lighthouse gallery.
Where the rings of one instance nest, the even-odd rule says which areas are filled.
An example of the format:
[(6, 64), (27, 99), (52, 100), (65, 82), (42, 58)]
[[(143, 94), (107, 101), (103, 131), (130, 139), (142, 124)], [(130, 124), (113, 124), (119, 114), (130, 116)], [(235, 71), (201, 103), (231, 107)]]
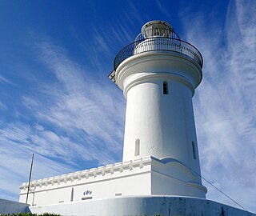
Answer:
[(116, 70), (118, 66), (124, 60), (126, 60), (126, 58), (129, 58), (135, 54), (141, 54), (154, 50), (166, 50), (185, 54), (195, 62), (198, 62), (199, 66), (202, 67), (202, 55), (198, 49), (190, 43), (184, 42), (178, 38), (154, 37), (132, 42), (120, 50), (120, 52), (114, 58), (114, 70)]

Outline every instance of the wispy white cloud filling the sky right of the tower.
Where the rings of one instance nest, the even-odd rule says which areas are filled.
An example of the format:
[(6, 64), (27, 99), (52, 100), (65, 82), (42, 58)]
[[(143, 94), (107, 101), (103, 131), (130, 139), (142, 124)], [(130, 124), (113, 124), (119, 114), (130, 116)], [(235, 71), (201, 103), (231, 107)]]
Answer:
[[(206, 23), (202, 14), (190, 22), (185, 18), (185, 26), (193, 26), (186, 37), (205, 62), (194, 96), (202, 174), (250, 208), (256, 196), (255, 10), (251, 1), (230, 2), (225, 30)], [(234, 205), (208, 188), (208, 198)]]

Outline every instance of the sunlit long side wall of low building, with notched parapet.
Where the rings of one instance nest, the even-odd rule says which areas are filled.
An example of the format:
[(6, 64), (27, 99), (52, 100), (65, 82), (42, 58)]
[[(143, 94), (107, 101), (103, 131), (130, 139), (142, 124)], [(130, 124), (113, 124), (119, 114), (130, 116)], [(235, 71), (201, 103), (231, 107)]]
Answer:
[[(42, 206), (78, 202), (82, 198), (150, 195), (150, 162), (151, 158), (144, 158), (137, 162), (116, 163), (105, 168), (104, 174), (96, 174), (102, 167), (94, 168), (85, 171), (87, 178), (83, 173), (73, 173), (32, 182), (33, 193), (30, 193), (28, 203)], [(21, 187), (20, 202), (26, 202), (26, 191), (27, 183)]]

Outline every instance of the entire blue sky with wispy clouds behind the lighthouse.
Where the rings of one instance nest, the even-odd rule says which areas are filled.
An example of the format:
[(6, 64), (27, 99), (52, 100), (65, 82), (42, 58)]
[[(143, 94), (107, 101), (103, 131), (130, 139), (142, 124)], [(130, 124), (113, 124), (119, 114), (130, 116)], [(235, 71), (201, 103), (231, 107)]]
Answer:
[(126, 102), (107, 75), (160, 19), (204, 58), (193, 98), (202, 176), (256, 212), (255, 11), (254, 0), (0, 1), (0, 198), (18, 200), (34, 142), (32, 179), (122, 161)]

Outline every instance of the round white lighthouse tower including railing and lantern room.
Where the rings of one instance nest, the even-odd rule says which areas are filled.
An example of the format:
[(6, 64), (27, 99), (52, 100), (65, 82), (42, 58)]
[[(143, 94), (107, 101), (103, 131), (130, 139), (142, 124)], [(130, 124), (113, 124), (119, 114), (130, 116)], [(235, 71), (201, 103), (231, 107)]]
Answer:
[(169, 23), (147, 22), (117, 54), (109, 77), (127, 100), (123, 161), (172, 158), (200, 174), (192, 104), (202, 80), (200, 52)]

